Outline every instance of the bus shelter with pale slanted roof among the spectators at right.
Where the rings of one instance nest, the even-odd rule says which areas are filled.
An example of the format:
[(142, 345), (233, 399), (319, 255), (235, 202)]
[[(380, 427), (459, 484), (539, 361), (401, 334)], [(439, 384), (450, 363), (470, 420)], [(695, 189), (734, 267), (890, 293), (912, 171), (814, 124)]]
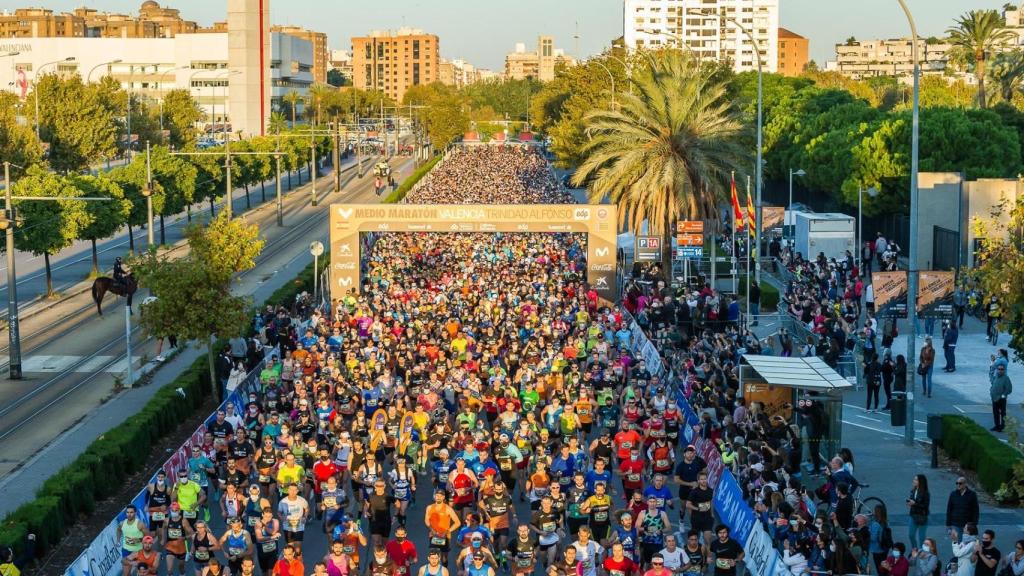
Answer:
[[(743, 403), (760, 403), (769, 416), (779, 415), (800, 429), (805, 465), (826, 463), (843, 445), (845, 377), (820, 358), (743, 355), (740, 361)], [(819, 458), (812, 457), (817, 451)]]

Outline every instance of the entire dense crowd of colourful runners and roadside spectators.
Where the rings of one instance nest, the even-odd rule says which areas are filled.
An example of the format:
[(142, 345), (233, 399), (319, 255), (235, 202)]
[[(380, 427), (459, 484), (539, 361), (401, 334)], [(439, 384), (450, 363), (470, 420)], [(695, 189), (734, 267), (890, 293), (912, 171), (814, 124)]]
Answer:
[[(459, 192), (434, 180), (418, 201), (558, 200), (549, 178), (520, 173), (542, 167), (534, 154), (456, 152), (440, 166), (468, 175), (438, 177)], [(525, 189), (471, 186), (500, 178)], [(676, 290), (656, 265), (622, 307), (602, 302), (586, 253), (567, 234), (383, 234), (360, 292), (266, 311), (260, 340), (280, 353), (242, 413), (218, 412), (178, 478), (148, 487), (150, 522), (127, 510), (125, 576), (734, 576), (744, 550), (714, 510), (719, 463), (793, 576), (995, 576), (966, 482), (940, 546), (925, 528), (927, 478), (914, 479), (904, 544), (885, 506), (855, 504), (853, 453), (826, 442), (818, 398), (740, 397), (740, 357), (795, 354), (792, 342), (759, 340), (735, 298)], [(827, 264), (785, 264), (813, 279), (788, 304), (809, 306), (811, 326), (831, 282), (824, 301), (842, 303), (839, 286), (858, 276), (840, 264), (818, 278)], [(669, 370), (634, 356), (632, 318)], [(825, 333), (846, 330), (830, 320)], [(692, 435), (679, 395), (699, 415)], [(711, 461), (696, 446), (709, 443)], [(1024, 544), (1006, 565), (1024, 576)]]

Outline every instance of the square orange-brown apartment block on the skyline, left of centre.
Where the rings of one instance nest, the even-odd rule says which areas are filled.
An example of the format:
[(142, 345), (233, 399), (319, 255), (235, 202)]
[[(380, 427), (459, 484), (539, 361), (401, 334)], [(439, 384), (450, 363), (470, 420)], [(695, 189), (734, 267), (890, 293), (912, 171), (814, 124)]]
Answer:
[(373, 31), (352, 38), (352, 80), (361, 90), (381, 90), (401, 101), (406, 90), (438, 79), (440, 41), (422, 30)]

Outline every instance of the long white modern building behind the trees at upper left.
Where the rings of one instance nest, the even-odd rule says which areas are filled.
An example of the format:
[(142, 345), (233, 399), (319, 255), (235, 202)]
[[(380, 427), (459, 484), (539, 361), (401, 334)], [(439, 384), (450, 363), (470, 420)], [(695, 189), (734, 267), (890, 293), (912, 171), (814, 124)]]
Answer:
[[(305, 96), (312, 84), (312, 44), (294, 36), (271, 33), (269, 85), (262, 113), (269, 118), (276, 102), (290, 90)], [(204, 125), (231, 123), (230, 86), (239, 80), (228, 66), (228, 34), (179, 34), (173, 38), (25, 38), (0, 40), (3, 51), (15, 56), (0, 59), (0, 88), (29, 94), (32, 82), (41, 74), (78, 74), (95, 82), (112, 76), (135, 97), (159, 101), (163, 94), (188, 88), (205, 113)], [(73, 60), (67, 58), (73, 57)], [(258, 107), (259, 98), (250, 98)], [(234, 105), (236, 108), (238, 105)], [(260, 113), (256, 113), (260, 114)], [(232, 130), (253, 135), (238, 119)], [(250, 129), (252, 132), (250, 133)]]

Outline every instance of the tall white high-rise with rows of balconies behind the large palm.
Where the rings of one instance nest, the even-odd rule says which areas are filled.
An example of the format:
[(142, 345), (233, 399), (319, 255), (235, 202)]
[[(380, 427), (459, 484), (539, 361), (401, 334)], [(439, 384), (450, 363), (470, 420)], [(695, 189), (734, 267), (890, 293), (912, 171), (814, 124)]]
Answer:
[(624, 9), (630, 49), (682, 46), (736, 72), (757, 70), (760, 53), (765, 72), (778, 67), (778, 0), (625, 0)]

